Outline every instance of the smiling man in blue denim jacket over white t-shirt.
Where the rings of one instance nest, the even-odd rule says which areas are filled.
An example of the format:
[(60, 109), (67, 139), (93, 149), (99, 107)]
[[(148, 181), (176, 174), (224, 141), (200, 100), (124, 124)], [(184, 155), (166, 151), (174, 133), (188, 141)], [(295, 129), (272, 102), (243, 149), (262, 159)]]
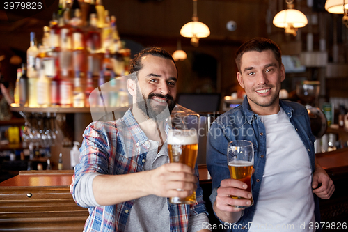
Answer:
[[(255, 38), (239, 47), (235, 61), (246, 97), (241, 106), (216, 118), (207, 141), (214, 212), (221, 222), (232, 223), (233, 231), (314, 231), (313, 224), (319, 222), (317, 197), (329, 199), (335, 187), (315, 162), (306, 108), (279, 99), (285, 79), (280, 49), (272, 40)], [(251, 192), (230, 178), (227, 147), (235, 140), (254, 146)]]

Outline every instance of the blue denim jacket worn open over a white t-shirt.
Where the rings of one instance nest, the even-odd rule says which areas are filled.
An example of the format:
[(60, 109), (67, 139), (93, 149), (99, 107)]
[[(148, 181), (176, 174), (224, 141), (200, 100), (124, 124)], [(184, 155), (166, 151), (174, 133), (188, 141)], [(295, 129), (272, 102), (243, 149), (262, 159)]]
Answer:
[[(307, 109), (297, 102), (284, 100), (280, 100), (280, 107), (282, 107), (287, 116), (289, 116), (290, 123), (294, 125), (296, 132), (299, 134), (299, 137), (306, 147), (313, 175), (315, 171), (315, 137), (310, 130), (310, 119)], [(233, 140), (248, 140), (254, 145), (255, 173), (253, 173), (251, 178), (254, 204), (244, 210), (244, 215), (237, 222), (237, 224), (241, 224), (242, 226), (236, 225), (233, 227), (239, 228), (234, 231), (248, 231), (247, 225), (249, 222), (253, 221), (266, 163), (266, 129), (258, 114), (254, 114), (253, 111), (251, 111), (247, 98), (244, 98), (243, 104), (239, 107), (231, 109), (216, 118), (216, 121), (212, 123), (212, 127), (209, 130), (207, 140), (207, 169), (212, 176), (213, 192), (210, 196), (212, 204), (214, 204), (216, 200), (216, 190), (220, 187), (221, 180), (230, 178), (226, 154), (228, 143)], [(314, 199), (315, 222), (320, 222), (319, 201), (316, 195)], [(243, 226), (244, 229), (241, 229)]]

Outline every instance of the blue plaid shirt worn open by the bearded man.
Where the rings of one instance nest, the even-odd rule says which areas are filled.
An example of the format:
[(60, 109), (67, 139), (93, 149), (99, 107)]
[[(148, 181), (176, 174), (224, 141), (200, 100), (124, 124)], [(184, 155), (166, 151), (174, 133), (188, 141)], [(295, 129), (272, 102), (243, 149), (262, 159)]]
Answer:
[[(167, 123), (165, 128), (168, 133)], [(148, 141), (148, 137), (139, 127), (131, 109), (117, 121), (90, 123), (84, 132), (80, 163), (75, 167), (70, 186), (74, 200), (76, 201), (75, 186), (86, 173), (121, 175), (142, 171), (149, 148), (145, 141)], [(198, 176), (197, 165), (195, 171)], [(197, 186), (197, 203), (191, 206), (171, 204), (167, 199), (171, 231), (187, 231), (190, 216), (203, 212), (207, 214), (199, 181)], [(113, 206), (89, 207), (90, 215), (86, 220), (84, 231), (125, 231), (133, 204), (134, 200)]]

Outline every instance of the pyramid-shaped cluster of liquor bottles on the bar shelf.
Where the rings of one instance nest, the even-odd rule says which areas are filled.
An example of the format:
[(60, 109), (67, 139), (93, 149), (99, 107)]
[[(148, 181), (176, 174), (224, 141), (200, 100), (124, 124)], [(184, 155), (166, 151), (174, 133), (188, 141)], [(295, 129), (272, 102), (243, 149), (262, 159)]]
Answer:
[[(69, 4), (68, 4), (69, 2)], [(22, 107), (123, 107), (128, 105), (123, 77), (128, 75), (130, 51), (120, 40), (116, 17), (102, 0), (59, 1), (58, 12), (44, 27), (42, 44), (30, 34), (26, 64), (17, 70), (15, 103)], [(112, 82), (112, 99), (90, 94)], [(111, 105), (112, 104), (112, 105)]]

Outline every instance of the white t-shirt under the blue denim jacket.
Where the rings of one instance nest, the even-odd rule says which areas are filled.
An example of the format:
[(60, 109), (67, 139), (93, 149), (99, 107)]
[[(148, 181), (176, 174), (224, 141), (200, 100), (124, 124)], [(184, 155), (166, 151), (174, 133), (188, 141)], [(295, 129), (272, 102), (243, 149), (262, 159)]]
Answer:
[(266, 165), (249, 231), (311, 231), (315, 216), (306, 148), (283, 109), (260, 118), (266, 127)]

